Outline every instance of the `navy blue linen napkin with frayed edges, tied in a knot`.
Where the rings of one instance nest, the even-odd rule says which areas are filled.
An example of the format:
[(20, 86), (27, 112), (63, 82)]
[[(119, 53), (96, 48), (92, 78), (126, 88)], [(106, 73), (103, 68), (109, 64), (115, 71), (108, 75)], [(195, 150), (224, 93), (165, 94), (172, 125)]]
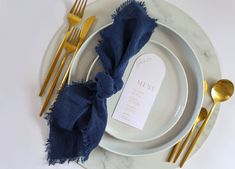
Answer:
[(49, 164), (85, 161), (96, 148), (107, 124), (106, 99), (123, 87), (129, 59), (150, 39), (156, 20), (144, 2), (126, 1), (115, 12), (113, 24), (101, 31), (96, 47), (104, 72), (95, 81), (65, 86), (47, 113)]

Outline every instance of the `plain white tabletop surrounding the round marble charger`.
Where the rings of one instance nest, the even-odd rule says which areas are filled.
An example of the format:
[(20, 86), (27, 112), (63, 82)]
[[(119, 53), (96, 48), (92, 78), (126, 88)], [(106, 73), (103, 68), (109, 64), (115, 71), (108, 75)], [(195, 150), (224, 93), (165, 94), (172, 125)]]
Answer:
[[(168, 0), (205, 30), (215, 46), (224, 78), (235, 82), (235, 1)], [(48, 167), (44, 141), (38, 133), (44, 120), (32, 121), (40, 110), (38, 76), (41, 59), (72, 0), (0, 0), (0, 168)], [(185, 169), (234, 169), (235, 97), (225, 103), (210, 137)], [(29, 116), (29, 114), (31, 116)], [(156, 167), (157, 168), (157, 167)], [(108, 168), (112, 169), (112, 168)]]

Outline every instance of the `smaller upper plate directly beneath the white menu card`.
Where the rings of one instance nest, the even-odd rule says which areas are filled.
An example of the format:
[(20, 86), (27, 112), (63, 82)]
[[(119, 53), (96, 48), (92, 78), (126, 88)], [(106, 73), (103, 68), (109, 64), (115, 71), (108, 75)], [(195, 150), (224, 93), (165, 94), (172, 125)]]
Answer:
[[(98, 38), (95, 34), (93, 34), (93, 36), (94, 37), (89, 40), (94, 40), (96, 37)], [(87, 45), (88, 44), (89, 42), (87, 42)], [(83, 48), (86, 47), (87, 46), (85, 45), (83, 46)], [(151, 53), (154, 54), (155, 57), (161, 58), (164, 62), (166, 70), (165, 76), (161, 82), (160, 90), (155, 98), (143, 130), (131, 127), (112, 118), (113, 112), (116, 109), (124, 87), (121, 91), (108, 98), (108, 124), (106, 127), (106, 132), (120, 140), (128, 142), (147, 142), (160, 137), (176, 124), (176, 122), (180, 119), (186, 105), (188, 97), (188, 84), (183, 66), (178, 58), (169, 49), (157, 42), (149, 41), (136, 56), (133, 56), (132, 59), (130, 59), (123, 76), (124, 83), (127, 82), (136, 60), (139, 56), (146, 53)], [(161, 72), (158, 68), (155, 68), (155, 70), (156, 72), (151, 72), (151, 74), (147, 74), (146, 76), (157, 76), (157, 72)], [(102, 71), (103, 66), (100, 63), (99, 57), (97, 57), (91, 64), (86, 81), (94, 80), (96, 73)]]

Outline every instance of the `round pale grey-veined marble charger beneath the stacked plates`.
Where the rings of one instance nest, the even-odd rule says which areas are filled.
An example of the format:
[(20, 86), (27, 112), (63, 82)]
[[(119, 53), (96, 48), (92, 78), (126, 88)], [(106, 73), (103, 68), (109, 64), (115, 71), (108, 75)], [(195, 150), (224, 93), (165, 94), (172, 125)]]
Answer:
[[(95, 3), (90, 4), (87, 7), (86, 15), (96, 14), (98, 20), (95, 24), (95, 30), (103, 26), (101, 20), (109, 20), (111, 22), (110, 14), (113, 13), (114, 9), (122, 3), (123, 0), (97, 0)], [(209, 85), (220, 79), (220, 68), (215, 50), (203, 32), (203, 30), (198, 26), (198, 24), (190, 18), (187, 14), (176, 8), (175, 6), (162, 1), (162, 0), (148, 0), (146, 5), (149, 10), (149, 14), (156, 16), (159, 21), (172, 27), (179, 34), (181, 34), (194, 49), (194, 52), (198, 56), (200, 61), (204, 77), (208, 80)], [(103, 10), (100, 10), (103, 9)], [(86, 16), (85, 16), (86, 17)], [(100, 19), (102, 18), (102, 19)], [(60, 32), (58, 32), (60, 33)], [(40, 79), (45, 75), (50, 63), (51, 57), (55, 53), (56, 42), (59, 39), (54, 40), (54, 44), (48, 48), (48, 52), (41, 66), (41, 76)], [(53, 42), (53, 41), (52, 41)], [(209, 108), (211, 106), (211, 100), (209, 94), (206, 95), (204, 106)], [(195, 151), (196, 152), (206, 141), (210, 134), (215, 121), (217, 119), (219, 108), (216, 109), (210, 120), (208, 127), (203, 133), (203, 136), (199, 140)], [(45, 136), (47, 137), (47, 136)], [(174, 169), (177, 168), (175, 164), (166, 163), (169, 151), (163, 151), (155, 155), (146, 157), (124, 157), (119, 156), (101, 148), (97, 148), (90, 156), (88, 162), (85, 166), (88, 169)]]

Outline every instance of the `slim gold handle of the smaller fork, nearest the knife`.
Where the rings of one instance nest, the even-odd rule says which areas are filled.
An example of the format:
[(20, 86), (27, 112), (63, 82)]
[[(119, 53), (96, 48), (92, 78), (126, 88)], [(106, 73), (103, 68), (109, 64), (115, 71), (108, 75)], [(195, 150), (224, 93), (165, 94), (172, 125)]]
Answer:
[(45, 112), (45, 110), (47, 108), (47, 105), (48, 105), (48, 103), (49, 103), (49, 101), (51, 99), (51, 96), (52, 96), (53, 91), (54, 91), (54, 89), (56, 87), (56, 84), (58, 82), (58, 79), (59, 79), (60, 74), (61, 74), (61, 72), (62, 72), (62, 70), (64, 68), (64, 65), (66, 63), (66, 60), (67, 60), (68, 56), (69, 56), (69, 52), (66, 52), (64, 57), (63, 57), (63, 60), (62, 60), (62, 62), (60, 64), (60, 67), (59, 67), (58, 71), (56, 72), (56, 75), (55, 75), (55, 78), (54, 78), (54, 80), (52, 82), (51, 88), (50, 88), (50, 90), (49, 90), (49, 92), (47, 94), (46, 100), (45, 100), (45, 102), (43, 104), (43, 107), (42, 107), (42, 110), (40, 112), (40, 117), (43, 115), (43, 113)]

